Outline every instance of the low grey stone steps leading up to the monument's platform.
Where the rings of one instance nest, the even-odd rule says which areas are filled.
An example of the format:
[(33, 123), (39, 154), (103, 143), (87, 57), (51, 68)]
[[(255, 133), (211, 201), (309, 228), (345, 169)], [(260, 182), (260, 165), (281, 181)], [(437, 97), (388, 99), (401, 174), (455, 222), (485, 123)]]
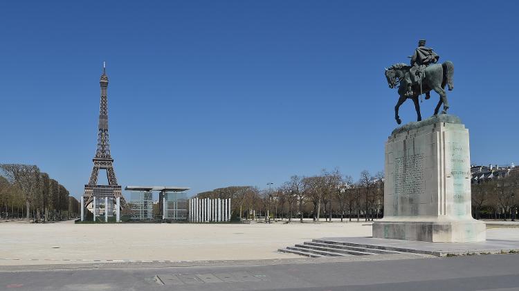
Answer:
[(314, 239), (296, 244), (293, 247), (285, 247), (279, 252), (288, 252), (318, 258), (322, 256), (370, 256), (376, 254), (399, 254), (396, 250), (381, 250), (374, 245), (360, 245), (355, 243), (343, 243)]

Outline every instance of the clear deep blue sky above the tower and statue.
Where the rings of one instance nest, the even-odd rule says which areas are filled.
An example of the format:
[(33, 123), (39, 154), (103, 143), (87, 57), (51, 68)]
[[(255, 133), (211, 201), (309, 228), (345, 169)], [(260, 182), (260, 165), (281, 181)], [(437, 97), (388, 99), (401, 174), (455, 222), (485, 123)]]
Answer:
[[(80, 196), (107, 61), (123, 187), (196, 194), (334, 167), (358, 178), (383, 170), (397, 126), (384, 67), (425, 38), (455, 64), (450, 113), (472, 162), (519, 164), (518, 2), (419, 3), (3, 1), (0, 162), (38, 165)], [(400, 115), (415, 120), (412, 102)]]

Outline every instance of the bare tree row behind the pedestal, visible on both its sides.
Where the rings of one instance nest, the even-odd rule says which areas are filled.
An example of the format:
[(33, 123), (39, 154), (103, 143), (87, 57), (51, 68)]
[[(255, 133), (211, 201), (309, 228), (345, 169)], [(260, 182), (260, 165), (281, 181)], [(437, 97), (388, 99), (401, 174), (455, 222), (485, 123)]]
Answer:
[[(258, 189), (233, 186), (206, 191), (199, 198), (231, 198), (237, 218), (321, 218), (373, 220), (383, 216), (383, 173), (362, 171), (359, 180), (340, 171), (323, 170), (316, 176), (292, 176), (280, 187)], [(486, 180), (472, 185), (473, 217), (515, 218), (519, 209), (519, 176)]]

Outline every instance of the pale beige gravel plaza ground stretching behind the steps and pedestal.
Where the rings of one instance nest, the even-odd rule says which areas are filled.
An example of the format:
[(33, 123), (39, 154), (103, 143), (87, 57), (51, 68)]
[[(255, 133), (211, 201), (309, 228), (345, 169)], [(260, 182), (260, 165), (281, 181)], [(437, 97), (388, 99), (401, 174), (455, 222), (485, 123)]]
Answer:
[[(518, 224), (487, 238), (519, 241)], [(277, 249), (330, 236), (371, 236), (371, 223), (74, 224), (0, 223), (0, 265), (100, 261), (221, 261), (300, 258)]]

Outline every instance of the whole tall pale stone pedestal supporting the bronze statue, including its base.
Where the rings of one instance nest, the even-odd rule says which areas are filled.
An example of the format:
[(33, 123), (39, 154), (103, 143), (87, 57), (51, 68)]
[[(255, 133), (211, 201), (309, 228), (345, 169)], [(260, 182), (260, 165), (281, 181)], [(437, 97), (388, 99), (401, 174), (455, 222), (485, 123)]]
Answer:
[(384, 218), (373, 237), (429, 242), (485, 241), (471, 214), (468, 130), (453, 115), (395, 129), (385, 144)]

